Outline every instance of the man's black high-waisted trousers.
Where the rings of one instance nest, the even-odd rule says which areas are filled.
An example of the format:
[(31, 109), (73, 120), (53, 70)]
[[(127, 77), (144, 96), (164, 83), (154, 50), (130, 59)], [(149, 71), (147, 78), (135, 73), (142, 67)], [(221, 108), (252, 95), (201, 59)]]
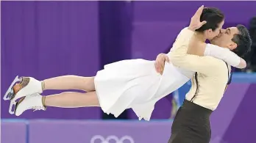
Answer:
[(174, 118), (168, 143), (209, 143), (212, 112), (185, 100)]

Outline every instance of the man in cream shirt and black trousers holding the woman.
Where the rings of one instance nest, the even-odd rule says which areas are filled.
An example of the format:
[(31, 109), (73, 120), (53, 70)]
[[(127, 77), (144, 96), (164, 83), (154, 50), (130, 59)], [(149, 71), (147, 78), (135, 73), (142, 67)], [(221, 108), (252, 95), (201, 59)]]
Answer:
[[(230, 65), (211, 56), (196, 56), (188, 53), (205, 48), (205, 37), (195, 32), (202, 26), (200, 16), (203, 6), (191, 18), (188, 28), (182, 29), (169, 54), (171, 62), (182, 69), (195, 73), (192, 87), (177, 111), (168, 143), (210, 142), (210, 114), (217, 108), (227, 84), (230, 83)], [(221, 32), (211, 43), (246, 54), (252, 40), (244, 26), (238, 25)], [(163, 67), (163, 65), (157, 65)]]

